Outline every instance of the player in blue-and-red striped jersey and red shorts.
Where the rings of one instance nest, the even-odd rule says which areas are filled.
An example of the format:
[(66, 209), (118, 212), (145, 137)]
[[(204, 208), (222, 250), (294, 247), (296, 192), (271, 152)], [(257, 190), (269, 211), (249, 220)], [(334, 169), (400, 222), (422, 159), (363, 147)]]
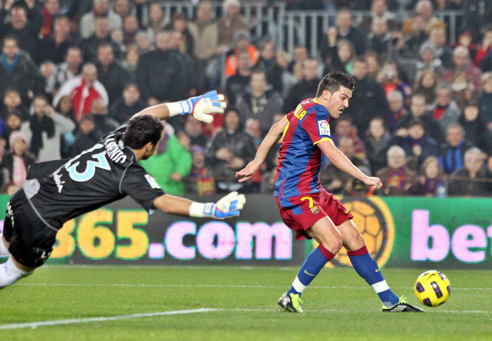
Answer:
[(292, 287), (278, 300), (285, 311), (302, 313), (301, 295), (325, 264), (344, 246), (355, 271), (372, 286), (383, 303), (383, 312), (421, 312), (397, 297), (369, 255), (345, 207), (321, 187), (322, 154), (340, 170), (375, 189), (381, 179), (365, 175), (335, 146), (330, 137), (330, 117), (338, 118), (352, 97), (355, 80), (332, 70), (319, 83), (315, 98), (302, 101), (285, 119), (274, 124), (256, 152), (256, 157), (236, 173), (246, 181), (260, 167), (268, 151), (282, 138), (274, 196), (285, 225), (296, 239), (314, 238), (319, 246), (306, 258)]

